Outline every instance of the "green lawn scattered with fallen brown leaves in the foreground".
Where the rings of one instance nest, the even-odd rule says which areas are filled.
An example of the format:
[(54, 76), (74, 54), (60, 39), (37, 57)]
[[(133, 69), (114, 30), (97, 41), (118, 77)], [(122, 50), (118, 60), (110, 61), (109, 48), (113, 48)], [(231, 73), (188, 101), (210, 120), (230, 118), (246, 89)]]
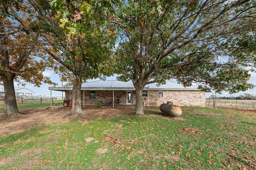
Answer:
[[(181, 117), (127, 116), (43, 124), (0, 139), (9, 169), (254, 169), (256, 113), (184, 107)], [(89, 140), (90, 139), (90, 140)], [(27, 167), (27, 168), (24, 168)]]

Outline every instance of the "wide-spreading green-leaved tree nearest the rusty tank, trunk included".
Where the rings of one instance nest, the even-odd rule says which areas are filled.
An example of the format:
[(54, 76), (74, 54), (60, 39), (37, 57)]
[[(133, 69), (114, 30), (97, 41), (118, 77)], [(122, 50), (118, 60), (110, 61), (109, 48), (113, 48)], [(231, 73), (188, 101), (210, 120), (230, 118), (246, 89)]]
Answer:
[(226, 55), (220, 44), (254, 27), (255, 0), (118, 0), (114, 10), (120, 44), (112, 61), (136, 88), (136, 114), (144, 114), (143, 88), (153, 82), (232, 93), (253, 87), (240, 65), (246, 58)]

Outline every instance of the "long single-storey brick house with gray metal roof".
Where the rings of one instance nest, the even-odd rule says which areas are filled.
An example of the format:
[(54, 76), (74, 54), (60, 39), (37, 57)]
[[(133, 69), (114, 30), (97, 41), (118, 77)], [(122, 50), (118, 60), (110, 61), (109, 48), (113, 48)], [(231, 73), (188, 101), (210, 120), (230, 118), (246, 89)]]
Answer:
[[(49, 87), (49, 90), (65, 92), (66, 99), (72, 99), (72, 86)], [(168, 101), (179, 106), (205, 106), (205, 92), (196, 86), (184, 88), (182, 84), (166, 81), (166, 84), (157, 86), (157, 83), (144, 87), (143, 102), (145, 106), (160, 106)], [(96, 80), (82, 84), (82, 105), (94, 105), (102, 100), (120, 99), (121, 105), (135, 105), (136, 93), (132, 81)]]

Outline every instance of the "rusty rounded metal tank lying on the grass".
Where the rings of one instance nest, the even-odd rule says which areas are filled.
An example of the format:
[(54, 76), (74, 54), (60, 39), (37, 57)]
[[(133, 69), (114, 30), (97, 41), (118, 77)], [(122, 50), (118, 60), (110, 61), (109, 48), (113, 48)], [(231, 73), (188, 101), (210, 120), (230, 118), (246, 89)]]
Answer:
[(160, 111), (171, 115), (173, 117), (180, 117), (182, 115), (182, 108), (179, 106), (173, 105), (172, 102), (167, 102), (167, 104), (160, 105)]

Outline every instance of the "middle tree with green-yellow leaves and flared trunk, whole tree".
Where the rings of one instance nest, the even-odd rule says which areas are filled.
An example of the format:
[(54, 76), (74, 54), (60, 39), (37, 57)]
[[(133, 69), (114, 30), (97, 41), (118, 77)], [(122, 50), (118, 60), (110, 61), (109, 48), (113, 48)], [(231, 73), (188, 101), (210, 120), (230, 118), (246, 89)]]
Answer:
[[(85, 116), (81, 108), (82, 79), (98, 77), (102, 68), (98, 65), (108, 59), (114, 47), (115, 34), (100, 17), (108, 15), (109, 4), (97, 0), (54, 0), (50, 4), (51, 10), (41, 15), (46, 16), (42, 18), (45, 25), (43, 35), (48, 42), (45, 50), (73, 75), (72, 109), (68, 117), (80, 119)], [(49, 9), (47, 5), (47, 0), (40, 3)]]

